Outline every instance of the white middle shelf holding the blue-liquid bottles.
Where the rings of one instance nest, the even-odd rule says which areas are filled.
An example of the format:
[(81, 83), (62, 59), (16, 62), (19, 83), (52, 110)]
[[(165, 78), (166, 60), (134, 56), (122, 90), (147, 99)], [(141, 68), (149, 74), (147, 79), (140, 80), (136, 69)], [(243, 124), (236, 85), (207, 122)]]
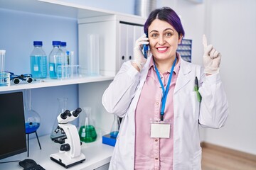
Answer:
[(0, 86), (0, 92), (4, 91), (16, 91), (23, 89), (36, 89), (43, 87), (51, 87), (51, 86), (64, 86), (71, 84), (85, 84), (97, 81), (107, 81), (112, 80), (114, 77), (107, 76), (98, 76), (98, 77), (78, 77), (75, 79), (41, 79), (33, 81), (31, 84), (26, 82), (21, 82), (21, 84), (12, 84), (11, 86)]

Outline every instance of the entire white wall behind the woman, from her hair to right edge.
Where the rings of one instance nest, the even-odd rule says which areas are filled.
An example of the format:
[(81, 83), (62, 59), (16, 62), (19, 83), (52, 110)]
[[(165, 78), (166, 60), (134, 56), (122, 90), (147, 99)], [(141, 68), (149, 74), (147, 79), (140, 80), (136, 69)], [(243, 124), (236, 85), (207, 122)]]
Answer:
[(203, 4), (194, 4), (188, 0), (163, 0), (163, 6), (171, 6), (181, 15), (186, 38), (193, 39), (193, 63), (202, 64), (203, 33), (223, 55), (220, 74), (230, 115), (223, 128), (204, 128), (202, 139), (256, 154), (256, 1), (204, 0)]

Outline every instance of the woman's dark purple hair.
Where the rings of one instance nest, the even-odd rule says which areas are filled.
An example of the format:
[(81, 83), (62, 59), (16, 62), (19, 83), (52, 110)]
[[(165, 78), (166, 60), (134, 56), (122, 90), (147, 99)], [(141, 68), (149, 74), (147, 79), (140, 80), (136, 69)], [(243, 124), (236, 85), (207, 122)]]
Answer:
[(185, 36), (185, 31), (183, 30), (181, 19), (178, 17), (177, 13), (169, 7), (158, 8), (149, 14), (149, 18), (147, 18), (144, 24), (144, 33), (148, 33), (149, 26), (156, 18), (161, 21), (166, 21), (171, 26), (173, 26), (174, 29), (178, 32), (178, 36)]

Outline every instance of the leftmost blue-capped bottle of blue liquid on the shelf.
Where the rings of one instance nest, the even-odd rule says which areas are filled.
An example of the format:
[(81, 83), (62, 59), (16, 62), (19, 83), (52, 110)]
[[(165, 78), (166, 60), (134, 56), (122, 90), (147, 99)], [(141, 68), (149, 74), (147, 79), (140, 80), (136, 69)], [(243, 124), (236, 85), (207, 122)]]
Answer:
[(31, 74), (33, 78), (44, 79), (47, 77), (47, 56), (43, 50), (42, 41), (33, 42), (34, 49), (31, 52)]

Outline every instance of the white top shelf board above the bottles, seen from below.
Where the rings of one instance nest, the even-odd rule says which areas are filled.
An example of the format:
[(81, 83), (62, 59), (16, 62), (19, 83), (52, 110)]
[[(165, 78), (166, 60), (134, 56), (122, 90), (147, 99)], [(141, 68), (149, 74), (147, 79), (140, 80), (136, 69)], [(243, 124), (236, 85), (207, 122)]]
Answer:
[(134, 18), (133, 22), (135, 22), (137, 19), (140, 20), (142, 18), (132, 14), (118, 13), (116, 11), (108, 11), (61, 0), (0, 0), (0, 8), (75, 19), (120, 15), (124, 17), (132, 16)]

